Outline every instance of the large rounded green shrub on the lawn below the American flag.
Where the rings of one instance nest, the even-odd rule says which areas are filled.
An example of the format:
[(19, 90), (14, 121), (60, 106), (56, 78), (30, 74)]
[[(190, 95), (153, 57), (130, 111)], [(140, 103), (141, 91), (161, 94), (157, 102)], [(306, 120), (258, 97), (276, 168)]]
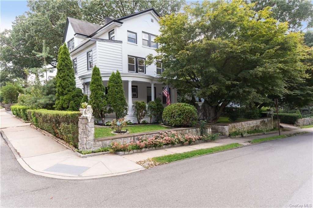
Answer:
[(197, 123), (197, 109), (187, 103), (174, 103), (164, 108), (163, 122), (174, 127), (194, 126)]

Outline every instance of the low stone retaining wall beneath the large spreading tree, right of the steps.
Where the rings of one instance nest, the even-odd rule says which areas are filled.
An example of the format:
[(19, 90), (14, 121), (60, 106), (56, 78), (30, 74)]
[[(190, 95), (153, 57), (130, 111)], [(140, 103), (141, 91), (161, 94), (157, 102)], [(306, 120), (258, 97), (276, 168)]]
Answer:
[(273, 129), (273, 119), (265, 117), (260, 119), (251, 119), (233, 123), (208, 123), (206, 126), (216, 129), (224, 136), (235, 131), (249, 131), (255, 129)]

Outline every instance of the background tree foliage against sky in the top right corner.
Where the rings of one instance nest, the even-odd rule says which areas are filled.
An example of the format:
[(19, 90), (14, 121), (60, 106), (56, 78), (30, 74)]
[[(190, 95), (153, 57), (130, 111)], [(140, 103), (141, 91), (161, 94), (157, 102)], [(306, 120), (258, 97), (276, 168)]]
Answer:
[(313, 4), (308, 0), (247, 0), (255, 3), (254, 11), (271, 7), (270, 17), (279, 22), (288, 22), (288, 29), (299, 31), (313, 27)]

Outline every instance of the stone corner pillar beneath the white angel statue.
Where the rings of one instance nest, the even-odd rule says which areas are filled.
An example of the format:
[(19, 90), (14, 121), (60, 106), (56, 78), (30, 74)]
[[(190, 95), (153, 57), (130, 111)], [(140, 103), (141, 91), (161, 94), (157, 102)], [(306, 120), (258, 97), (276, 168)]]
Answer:
[(95, 141), (95, 123), (92, 116), (90, 122), (87, 117), (78, 117), (78, 149), (91, 150)]

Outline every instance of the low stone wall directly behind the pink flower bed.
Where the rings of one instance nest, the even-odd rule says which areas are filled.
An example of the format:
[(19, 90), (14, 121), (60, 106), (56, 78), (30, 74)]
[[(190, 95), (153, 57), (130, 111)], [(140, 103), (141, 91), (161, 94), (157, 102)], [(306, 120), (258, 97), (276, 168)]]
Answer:
[[(105, 128), (105, 127), (104, 127)], [(184, 136), (185, 134), (191, 134), (195, 136), (201, 136), (200, 128), (199, 127), (191, 127), (191, 128), (171, 128), (171, 129), (164, 129), (160, 131), (152, 131), (152, 132), (143, 132), (143, 133), (132, 133), (132, 134), (124, 134), (124, 135), (117, 135), (112, 137), (103, 137), (103, 138), (95, 138), (93, 149), (98, 149), (101, 147), (107, 147), (112, 142), (119, 142), (119, 143), (130, 143), (131, 141), (136, 142), (139, 140), (140, 137), (153, 137), (159, 135), (162, 132), (170, 133), (171, 131), (176, 131), (178, 135)], [(211, 133), (211, 128), (204, 129), (205, 132)]]

